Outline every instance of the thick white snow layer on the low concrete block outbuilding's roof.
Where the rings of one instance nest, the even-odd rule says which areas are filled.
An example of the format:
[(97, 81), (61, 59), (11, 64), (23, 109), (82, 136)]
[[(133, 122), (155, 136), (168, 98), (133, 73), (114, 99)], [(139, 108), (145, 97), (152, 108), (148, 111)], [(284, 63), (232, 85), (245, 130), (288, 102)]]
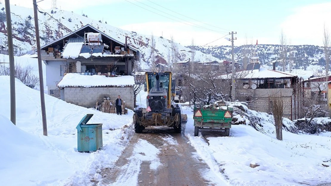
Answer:
[(77, 73), (66, 74), (58, 83), (58, 87), (124, 87), (133, 86), (133, 76), (106, 77), (100, 75), (81, 75)]

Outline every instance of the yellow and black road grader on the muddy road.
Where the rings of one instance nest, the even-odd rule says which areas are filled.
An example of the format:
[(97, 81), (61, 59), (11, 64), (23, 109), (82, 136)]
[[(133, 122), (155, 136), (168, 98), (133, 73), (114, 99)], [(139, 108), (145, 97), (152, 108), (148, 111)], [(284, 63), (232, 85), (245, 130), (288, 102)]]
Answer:
[(175, 81), (171, 72), (146, 72), (145, 91), (147, 108), (135, 111), (135, 132), (150, 126), (168, 126), (181, 132), (181, 110), (173, 102)]

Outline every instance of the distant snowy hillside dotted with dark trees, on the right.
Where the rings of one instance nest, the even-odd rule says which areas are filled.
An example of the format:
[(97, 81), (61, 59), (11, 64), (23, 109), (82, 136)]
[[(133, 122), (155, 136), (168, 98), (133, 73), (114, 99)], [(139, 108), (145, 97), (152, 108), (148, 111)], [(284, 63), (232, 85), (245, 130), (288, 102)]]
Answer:
[[(231, 46), (189, 46), (189, 48), (195, 48), (197, 51), (211, 54), (219, 59), (231, 60)], [(245, 54), (247, 54), (247, 57), (252, 57), (256, 56), (257, 53), (260, 62), (265, 67), (272, 68), (272, 62), (277, 61), (276, 66), (280, 70), (280, 51), (280, 45), (243, 45), (234, 47), (234, 56), (236, 61), (243, 63)], [(313, 45), (287, 46), (286, 61), (292, 63), (292, 69), (308, 70), (313, 65), (318, 65), (315, 67), (323, 69), (325, 66), (323, 47)], [(289, 70), (289, 64), (287, 70)]]

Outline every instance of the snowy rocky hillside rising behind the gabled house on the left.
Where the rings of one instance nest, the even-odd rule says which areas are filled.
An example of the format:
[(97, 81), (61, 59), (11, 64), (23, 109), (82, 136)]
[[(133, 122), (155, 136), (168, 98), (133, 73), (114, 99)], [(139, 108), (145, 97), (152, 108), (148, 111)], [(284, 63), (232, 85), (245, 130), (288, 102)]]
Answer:
[[(4, 5), (0, 4), (0, 44), (7, 46), (7, 30), (6, 30), (6, 19)], [(47, 10), (51, 14), (52, 10)], [(81, 15), (77, 15), (68, 11), (63, 11), (59, 9), (53, 10), (51, 14), (55, 19), (59, 20), (57, 22), (55, 19), (51, 18), (47, 14), (38, 13), (39, 19), (39, 30), (41, 45), (45, 45), (48, 42), (54, 41), (71, 31), (74, 31), (86, 24), (90, 24), (107, 35), (117, 39), (119, 41), (125, 42), (125, 36), (128, 36), (128, 44), (138, 48), (141, 51), (142, 68), (147, 69), (151, 65), (151, 36), (141, 35), (136, 32), (130, 32), (126, 30), (119, 29), (117, 27), (108, 25), (106, 23), (100, 23), (97, 20), (86, 18)], [(22, 55), (30, 50), (36, 48), (35, 41), (35, 31), (34, 31), (34, 21), (33, 21), (33, 10), (29, 8), (11, 6), (11, 18), (13, 24), (13, 38), (14, 38), (14, 48), (16, 55)], [(65, 28), (65, 25), (67, 28)], [(155, 36), (155, 56), (159, 61), (166, 60), (168, 58), (168, 50), (171, 49), (171, 42), (163, 37)], [(191, 56), (189, 48), (181, 46), (178, 44), (179, 57), (178, 61), (188, 60)], [(170, 52), (170, 55), (172, 53)], [(201, 61), (205, 60), (218, 60), (211, 55), (203, 54), (202, 52), (197, 52), (195, 59)]]

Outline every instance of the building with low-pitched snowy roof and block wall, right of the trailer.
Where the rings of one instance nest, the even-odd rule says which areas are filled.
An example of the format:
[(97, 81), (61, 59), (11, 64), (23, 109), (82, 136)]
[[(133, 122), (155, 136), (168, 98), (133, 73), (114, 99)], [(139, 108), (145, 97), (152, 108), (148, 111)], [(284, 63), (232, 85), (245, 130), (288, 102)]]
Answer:
[[(231, 79), (231, 74), (221, 78)], [(260, 67), (238, 71), (235, 78), (236, 99), (250, 101), (250, 109), (271, 113), (274, 100), (280, 98), (283, 117), (290, 120), (302, 118), (303, 91), (296, 75)]]

